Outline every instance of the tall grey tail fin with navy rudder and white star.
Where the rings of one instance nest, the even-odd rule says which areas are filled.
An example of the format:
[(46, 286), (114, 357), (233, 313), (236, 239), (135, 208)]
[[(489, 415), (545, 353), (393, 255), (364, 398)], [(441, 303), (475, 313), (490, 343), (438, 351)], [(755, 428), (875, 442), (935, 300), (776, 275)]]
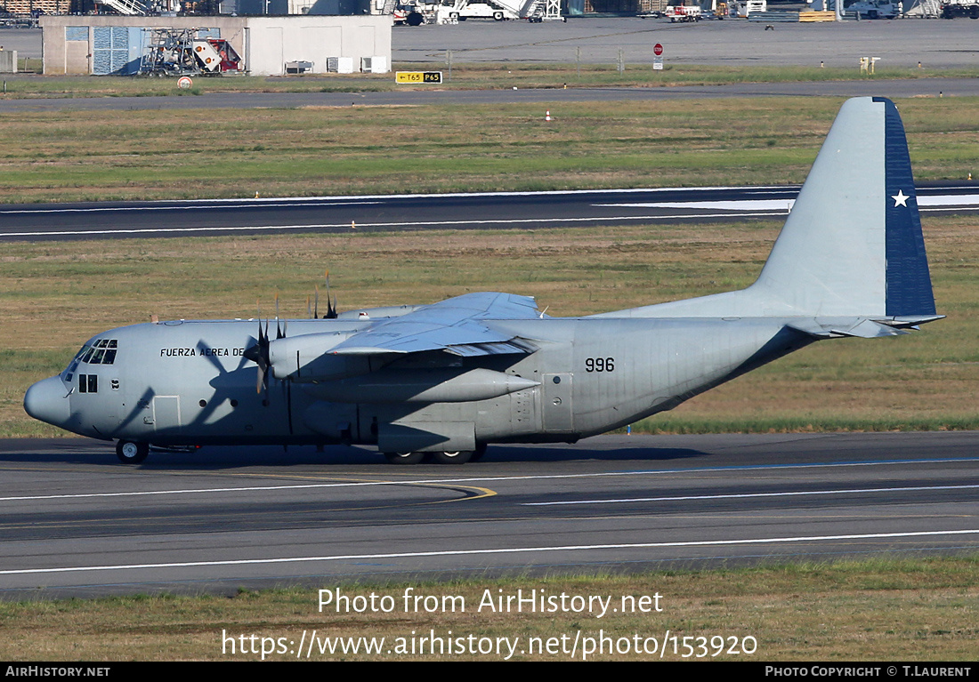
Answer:
[(623, 315), (934, 318), (908, 141), (894, 103), (844, 103), (755, 284), (602, 316)]

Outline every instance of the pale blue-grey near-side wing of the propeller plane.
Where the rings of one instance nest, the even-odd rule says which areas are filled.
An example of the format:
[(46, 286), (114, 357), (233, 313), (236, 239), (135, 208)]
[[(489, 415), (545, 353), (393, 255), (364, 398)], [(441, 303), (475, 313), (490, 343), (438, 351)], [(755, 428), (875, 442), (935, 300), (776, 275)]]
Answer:
[(492, 329), (489, 320), (540, 317), (534, 298), (481, 293), (455, 296), (384, 320), (329, 350), (334, 355), (376, 355), (444, 350), (455, 355), (531, 353), (536, 347)]

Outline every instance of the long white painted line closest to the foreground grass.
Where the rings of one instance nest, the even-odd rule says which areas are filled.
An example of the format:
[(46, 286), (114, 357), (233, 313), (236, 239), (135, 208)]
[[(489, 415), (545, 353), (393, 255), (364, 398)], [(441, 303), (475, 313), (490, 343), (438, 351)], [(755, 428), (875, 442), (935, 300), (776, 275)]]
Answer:
[(858, 535), (804, 535), (796, 537), (761, 537), (743, 540), (689, 540), (684, 542), (630, 542), (603, 545), (558, 545), (553, 547), (508, 547), (504, 549), (443, 550), (431, 552), (392, 552), (389, 554), (339, 554), (321, 557), (285, 557), (282, 559), (239, 559), (209, 562), (175, 562), (171, 564), (122, 564), (118, 566), (76, 566), (64, 568), (18, 568), (0, 570), (0, 575), (25, 575), (30, 573), (67, 573), (86, 570), (129, 570), (134, 568), (194, 568), (219, 566), (249, 566), (260, 564), (288, 564), (308, 562), (367, 561), (378, 559), (411, 559), (416, 557), (461, 557), (487, 554), (524, 554), (541, 552), (579, 552), (607, 549), (649, 549), (654, 547), (711, 547), (719, 545), (760, 545), (781, 542), (822, 542), (832, 540), (869, 540), (901, 537), (934, 537), (938, 535), (979, 534), (979, 528), (966, 530), (919, 530), (896, 533), (861, 533)]

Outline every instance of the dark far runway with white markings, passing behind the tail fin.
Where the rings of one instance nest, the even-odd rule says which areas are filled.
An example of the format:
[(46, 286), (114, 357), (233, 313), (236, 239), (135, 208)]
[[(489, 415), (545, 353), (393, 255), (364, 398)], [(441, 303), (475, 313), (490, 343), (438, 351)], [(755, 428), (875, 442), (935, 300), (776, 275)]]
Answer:
[[(785, 216), (798, 186), (9, 205), (0, 241), (546, 228)], [(974, 213), (979, 182), (917, 188), (922, 212)]]

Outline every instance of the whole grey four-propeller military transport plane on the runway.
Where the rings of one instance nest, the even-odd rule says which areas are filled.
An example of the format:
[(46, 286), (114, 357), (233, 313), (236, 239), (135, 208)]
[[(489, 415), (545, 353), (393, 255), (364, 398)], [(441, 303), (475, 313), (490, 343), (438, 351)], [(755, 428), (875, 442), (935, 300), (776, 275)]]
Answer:
[[(758, 281), (737, 292), (553, 318), (534, 298), (289, 320), (154, 322), (87, 341), (27, 413), (150, 446), (376, 444), (462, 464), (487, 443), (574, 442), (670, 410), (813, 341), (940, 319), (897, 108), (846, 102)], [(257, 377), (256, 377), (257, 375)], [(256, 380), (258, 390), (256, 391)]]

